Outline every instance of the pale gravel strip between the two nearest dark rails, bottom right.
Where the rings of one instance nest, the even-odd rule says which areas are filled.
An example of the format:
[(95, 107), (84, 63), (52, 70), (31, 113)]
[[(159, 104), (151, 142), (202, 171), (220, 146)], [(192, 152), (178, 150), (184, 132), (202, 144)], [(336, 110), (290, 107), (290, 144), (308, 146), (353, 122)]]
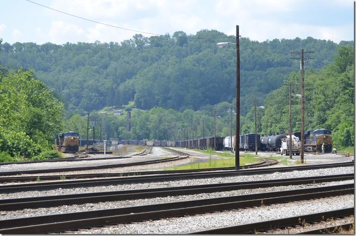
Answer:
[(190, 233), (217, 227), (247, 224), (323, 211), (332, 211), (354, 205), (353, 195), (330, 197), (268, 206), (228, 210), (208, 214), (133, 222), (68, 233), (123, 233), (123, 234), (176, 234)]

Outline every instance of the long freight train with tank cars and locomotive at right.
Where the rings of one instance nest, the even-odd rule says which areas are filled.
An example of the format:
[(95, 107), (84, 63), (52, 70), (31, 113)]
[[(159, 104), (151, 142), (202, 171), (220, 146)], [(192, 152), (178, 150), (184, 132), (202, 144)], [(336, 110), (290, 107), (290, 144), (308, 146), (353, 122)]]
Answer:
[[(295, 132), (294, 135), (301, 140), (300, 132)], [(257, 150), (259, 151), (280, 151), (282, 141), (289, 137), (288, 134), (278, 134), (270, 136), (261, 136), (245, 134), (239, 136), (239, 150), (254, 151), (255, 137), (257, 136)], [(143, 146), (161, 146), (161, 147), (185, 147), (196, 149), (215, 149), (216, 150), (231, 150), (231, 140), (228, 137), (210, 136), (206, 138), (188, 139), (180, 141), (136, 141), (136, 140), (120, 140), (118, 144), (137, 145), (139, 143)], [(216, 145), (215, 145), (216, 142)], [(233, 150), (236, 149), (236, 139), (232, 136)], [(305, 152), (321, 152), (321, 146), (324, 143), (325, 152), (332, 151), (332, 136), (331, 131), (327, 129), (311, 130), (304, 133), (304, 151)], [(295, 152), (299, 154), (298, 152)]]

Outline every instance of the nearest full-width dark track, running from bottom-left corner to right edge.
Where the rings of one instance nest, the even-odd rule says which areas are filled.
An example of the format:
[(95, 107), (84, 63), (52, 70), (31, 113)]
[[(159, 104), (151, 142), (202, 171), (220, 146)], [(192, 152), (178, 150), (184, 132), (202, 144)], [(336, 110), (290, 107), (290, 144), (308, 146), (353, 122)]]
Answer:
[[(48, 233), (353, 194), (328, 187), (0, 220), (0, 233)], [(307, 192), (308, 193), (307, 193)], [(352, 208), (353, 209), (353, 208)], [(353, 210), (352, 210), (353, 212)], [(348, 212), (348, 214), (350, 214)]]

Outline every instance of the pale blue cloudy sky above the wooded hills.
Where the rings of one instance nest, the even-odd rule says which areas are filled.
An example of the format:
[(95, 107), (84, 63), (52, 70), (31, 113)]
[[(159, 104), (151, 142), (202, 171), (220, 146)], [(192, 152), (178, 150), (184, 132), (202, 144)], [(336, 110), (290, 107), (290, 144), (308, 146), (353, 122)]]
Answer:
[(141, 33), (172, 35), (202, 29), (259, 42), (306, 38), (354, 39), (352, 0), (26, 0), (0, 2), (3, 42), (122, 42)]

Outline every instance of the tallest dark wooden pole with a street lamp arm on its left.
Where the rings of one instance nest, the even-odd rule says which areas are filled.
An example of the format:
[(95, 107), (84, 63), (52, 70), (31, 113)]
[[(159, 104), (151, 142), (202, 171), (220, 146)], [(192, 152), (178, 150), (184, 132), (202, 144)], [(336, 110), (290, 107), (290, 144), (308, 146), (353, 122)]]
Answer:
[(218, 42), (218, 47), (225, 47), (228, 44), (236, 45), (236, 151), (235, 151), (235, 169), (240, 169), (240, 152), (237, 149), (240, 146), (240, 34), (239, 26), (236, 26), (236, 43)]

